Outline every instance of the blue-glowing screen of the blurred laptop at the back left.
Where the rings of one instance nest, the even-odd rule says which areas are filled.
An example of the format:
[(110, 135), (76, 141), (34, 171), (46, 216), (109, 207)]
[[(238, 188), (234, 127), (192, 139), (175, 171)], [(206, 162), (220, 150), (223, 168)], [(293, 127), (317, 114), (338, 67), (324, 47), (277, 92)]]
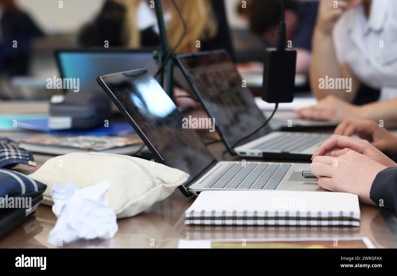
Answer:
[(95, 78), (99, 74), (145, 67), (150, 73), (158, 68), (150, 51), (60, 50), (58, 66), (63, 78), (79, 78), (80, 91), (100, 91)]

